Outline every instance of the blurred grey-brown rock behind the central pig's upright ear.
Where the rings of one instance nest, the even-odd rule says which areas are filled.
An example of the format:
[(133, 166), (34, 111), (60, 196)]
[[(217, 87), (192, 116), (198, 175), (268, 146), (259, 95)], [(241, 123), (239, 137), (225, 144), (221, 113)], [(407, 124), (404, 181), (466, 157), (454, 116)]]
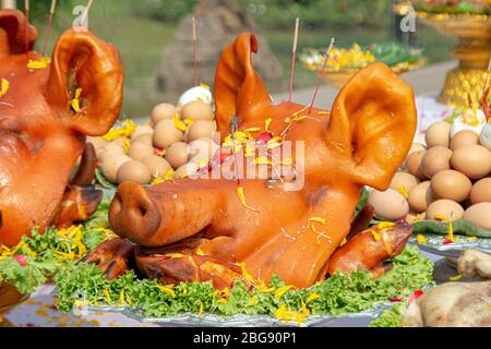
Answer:
[(200, 82), (213, 87), (216, 65), (224, 47), (243, 32), (258, 35), (259, 52), (253, 55), (254, 67), (264, 81), (275, 82), (282, 67), (268, 44), (244, 9), (231, 0), (202, 0), (193, 13), (178, 25), (173, 41), (166, 48), (160, 67), (149, 88), (152, 99), (176, 103), (194, 84), (192, 17), (196, 20), (197, 73)]

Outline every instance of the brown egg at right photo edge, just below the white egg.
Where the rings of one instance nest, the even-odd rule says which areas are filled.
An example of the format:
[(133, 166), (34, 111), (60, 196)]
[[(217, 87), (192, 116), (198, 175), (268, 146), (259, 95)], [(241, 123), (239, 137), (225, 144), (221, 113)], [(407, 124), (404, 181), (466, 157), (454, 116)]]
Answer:
[(470, 179), (481, 179), (491, 172), (491, 152), (481, 145), (465, 145), (451, 158), (454, 169)]

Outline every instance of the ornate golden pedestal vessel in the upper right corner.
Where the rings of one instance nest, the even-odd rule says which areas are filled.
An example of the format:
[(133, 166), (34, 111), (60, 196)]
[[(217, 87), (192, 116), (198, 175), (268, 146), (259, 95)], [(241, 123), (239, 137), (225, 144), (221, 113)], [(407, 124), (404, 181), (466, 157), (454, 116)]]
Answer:
[(423, 23), (458, 38), (453, 56), (459, 64), (446, 75), (438, 101), (467, 106), (467, 95), (481, 97), (491, 58), (491, 17), (484, 14), (447, 14), (415, 11), (410, 4), (395, 7), (398, 14), (411, 11)]

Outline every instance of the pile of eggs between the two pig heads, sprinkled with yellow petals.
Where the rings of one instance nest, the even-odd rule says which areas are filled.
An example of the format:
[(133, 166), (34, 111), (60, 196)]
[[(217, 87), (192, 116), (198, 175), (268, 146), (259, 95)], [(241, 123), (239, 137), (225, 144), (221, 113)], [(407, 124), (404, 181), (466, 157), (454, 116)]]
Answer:
[(176, 106), (155, 106), (149, 122), (127, 139), (88, 139), (105, 179), (115, 184), (148, 184), (158, 178), (187, 177), (206, 166), (219, 147), (212, 140), (216, 131), (212, 99), (207, 86), (196, 86)]

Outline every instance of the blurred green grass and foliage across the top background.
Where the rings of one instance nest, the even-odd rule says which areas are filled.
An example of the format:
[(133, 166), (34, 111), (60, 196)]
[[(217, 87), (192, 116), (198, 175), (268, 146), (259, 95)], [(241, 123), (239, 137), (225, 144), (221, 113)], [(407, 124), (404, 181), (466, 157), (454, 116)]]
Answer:
[[(125, 71), (124, 106), (129, 116), (144, 116), (156, 103), (148, 94), (161, 62), (166, 47), (173, 40), (179, 19), (192, 11), (199, 1), (209, 0), (95, 0), (89, 26), (103, 39), (115, 44)], [(284, 74), (271, 81), (268, 88), (286, 91), (295, 19), (300, 17), (298, 51), (325, 47), (331, 37), (336, 45), (350, 47), (354, 43), (370, 45), (394, 40), (391, 28), (391, 0), (221, 0), (242, 5), (258, 24), (258, 33), (265, 38), (276, 55)], [(24, 1), (17, 0), (19, 9)], [(31, 20), (37, 26), (43, 49), (50, 0), (31, 1)], [(48, 52), (56, 39), (72, 25), (73, 9), (87, 0), (58, 0)], [(429, 62), (450, 59), (454, 39), (418, 23), (417, 45), (423, 49)], [(226, 43), (224, 43), (225, 45)], [(179, 59), (179, 58), (177, 58)], [(295, 87), (311, 87), (318, 77), (314, 72), (297, 69)], [(175, 103), (175, 101), (171, 101)]]

